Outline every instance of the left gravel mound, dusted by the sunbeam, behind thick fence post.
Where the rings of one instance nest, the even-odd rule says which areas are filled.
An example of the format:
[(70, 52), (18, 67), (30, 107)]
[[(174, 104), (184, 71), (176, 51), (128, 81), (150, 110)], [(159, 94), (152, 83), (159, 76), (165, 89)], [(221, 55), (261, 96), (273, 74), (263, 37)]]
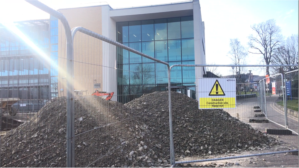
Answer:
[[(13, 162), (9, 166), (66, 167), (65, 99), (62, 97), (51, 100), (29, 122), (1, 137), (1, 153), (4, 154), (1, 155), (1, 166)], [(101, 142), (111, 137), (109, 130), (119, 127), (117, 121), (130, 118), (128, 111), (123, 104), (100, 97), (76, 97), (75, 146), (76, 163), (80, 163), (79, 167), (98, 159), (94, 155), (88, 156), (86, 151), (106, 153), (101, 148), (105, 144)], [(114, 124), (109, 126), (112, 123)], [(89, 132), (84, 133), (86, 131)], [(82, 147), (78, 147), (79, 145)], [(21, 160), (17, 161), (19, 159)]]

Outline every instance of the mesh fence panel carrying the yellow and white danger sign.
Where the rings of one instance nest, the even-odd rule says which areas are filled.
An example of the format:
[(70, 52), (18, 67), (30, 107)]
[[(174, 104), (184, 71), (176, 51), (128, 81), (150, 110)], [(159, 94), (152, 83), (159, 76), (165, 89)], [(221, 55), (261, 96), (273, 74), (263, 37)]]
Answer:
[[(174, 67), (204, 67), (206, 65), (172, 65), (170, 69)], [(216, 67), (229, 67), (231, 65), (213, 65)], [(234, 65), (235, 66), (235, 65)], [(260, 65), (237, 65), (240, 67), (250, 67), (255, 68)], [(271, 65), (270, 65), (271, 66)], [(272, 65), (273, 66), (273, 65)], [(275, 65), (274, 65), (275, 66)], [(227, 70), (229, 71), (229, 69)], [(250, 76), (250, 73), (246, 74)], [(244, 74), (244, 76), (246, 76)], [(281, 74), (279, 74), (280, 77)], [(277, 75), (278, 76), (278, 75)], [(176, 164), (187, 164), (193, 162), (206, 162), (206, 161), (216, 161), (216, 160), (224, 160), (224, 159), (237, 159), (242, 157), (252, 157), (264, 155), (259, 152), (260, 149), (263, 150), (263, 147), (255, 146), (255, 142), (250, 140), (257, 138), (258, 132), (248, 131), (251, 129), (251, 126), (263, 132), (263, 136), (267, 136), (267, 133), (264, 133), (266, 129), (272, 128), (286, 128), (284, 121), (284, 110), (280, 110), (279, 114), (274, 114), (271, 106), (277, 103), (277, 101), (269, 101), (273, 99), (273, 96), (270, 98), (270, 93), (272, 91), (268, 91), (266, 89), (266, 78), (255, 83), (237, 83), (234, 86), (231, 81), (242, 81), (242, 79), (234, 78), (234, 75), (221, 77), (221, 78), (202, 78), (198, 80), (198, 77), (193, 77), (193, 80), (198, 81), (196, 83), (196, 93), (199, 94), (199, 99), (197, 99), (199, 104), (194, 105), (199, 107), (199, 109), (213, 109), (206, 110), (205, 112), (199, 111), (193, 115), (186, 115), (185, 120), (190, 120), (186, 123), (198, 123), (198, 126), (194, 126), (192, 124), (188, 124), (189, 130), (197, 130), (192, 133), (189, 132), (189, 138), (185, 147), (185, 150), (179, 150), (179, 144), (175, 143), (175, 153)], [(275, 77), (271, 76), (271, 77)], [(276, 78), (271, 81), (278, 81)], [(282, 81), (282, 79), (280, 79)], [(280, 82), (282, 83), (282, 82)], [(254, 87), (250, 86), (253, 85)], [(278, 84), (279, 85), (279, 84)], [(249, 86), (249, 87), (248, 87)], [(248, 87), (248, 88), (247, 88)], [(283, 84), (282, 84), (283, 87)], [(252, 88), (252, 90), (250, 90)], [(271, 87), (269, 87), (271, 89)], [(238, 90), (239, 89), (239, 90)], [(247, 90), (246, 90), (247, 89)], [(230, 92), (235, 94), (234, 98), (230, 95)], [(246, 94), (245, 94), (246, 91)], [(248, 92), (249, 91), (249, 92)], [(214, 92), (214, 93), (213, 93)], [(238, 93), (238, 94), (237, 94)], [(275, 97), (275, 95), (274, 95)], [(283, 94), (281, 94), (281, 100), (283, 101)], [(214, 102), (213, 102), (214, 101)], [(235, 101), (235, 102), (234, 102)], [(223, 109), (224, 108), (224, 109)], [(224, 111), (222, 111), (222, 109)], [(267, 110), (268, 109), (268, 110)], [(275, 109), (276, 110), (276, 109)], [(172, 111), (173, 116), (176, 116), (175, 112)], [(282, 115), (280, 114), (282, 113)], [(198, 116), (195, 117), (195, 116)], [(276, 126), (274, 122), (271, 122), (268, 118), (272, 118), (276, 120), (278, 116), (283, 118), (284, 125)], [(174, 117), (177, 122), (176, 117)], [(197, 122), (196, 122), (197, 121)], [(243, 123), (248, 123), (244, 125), (238, 125), (238, 121), (242, 121)], [(277, 121), (281, 122), (281, 121)], [(230, 125), (231, 124), (231, 125)], [(236, 125), (234, 125), (236, 124)], [(249, 126), (249, 127), (248, 127)], [(281, 127), (282, 126), (282, 127)], [(173, 134), (174, 141), (182, 143), (182, 139), (179, 133), (176, 132), (177, 124), (173, 125)], [(198, 127), (198, 128), (197, 128)], [(187, 130), (188, 130), (187, 129)], [(187, 131), (186, 131), (187, 132)], [(253, 133), (255, 132), (255, 133)], [(260, 132), (260, 133), (261, 133)], [(244, 138), (244, 139), (243, 139)], [(293, 136), (290, 140), (293, 140), (296, 143), (297, 136)], [(184, 139), (186, 142), (186, 139)], [(249, 140), (249, 141), (248, 141)], [(274, 141), (272, 141), (274, 142)], [(225, 144), (225, 145), (224, 145)], [(272, 146), (273, 144), (269, 142), (265, 142), (263, 144), (265, 148)], [(265, 149), (264, 148), (264, 149)], [(186, 150), (187, 149), (187, 150)], [(249, 155), (241, 155), (242, 151), (246, 151)], [(232, 157), (220, 157), (213, 159), (199, 159), (193, 160), (193, 153), (201, 154), (206, 157), (210, 155), (238, 155)], [(274, 152), (276, 153), (276, 152)], [(266, 153), (265, 155), (271, 155), (273, 153)]]

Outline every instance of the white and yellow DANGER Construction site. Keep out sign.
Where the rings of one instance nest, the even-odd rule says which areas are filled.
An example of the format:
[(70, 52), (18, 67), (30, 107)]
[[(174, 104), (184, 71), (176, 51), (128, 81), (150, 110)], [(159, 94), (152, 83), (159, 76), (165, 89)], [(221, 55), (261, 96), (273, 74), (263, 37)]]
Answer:
[(199, 109), (236, 108), (235, 78), (199, 78)]

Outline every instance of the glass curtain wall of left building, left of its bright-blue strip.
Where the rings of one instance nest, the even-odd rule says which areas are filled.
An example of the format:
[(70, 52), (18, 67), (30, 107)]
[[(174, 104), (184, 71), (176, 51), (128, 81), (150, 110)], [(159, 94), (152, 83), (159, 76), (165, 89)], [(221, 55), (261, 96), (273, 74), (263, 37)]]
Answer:
[[(50, 55), (49, 20), (21, 21), (16, 22), (16, 26), (35, 46)], [(33, 107), (33, 104), (43, 104), (49, 99), (49, 65), (46, 59), (26, 40), (3, 25), (0, 34), (0, 97), (18, 97), (21, 100), (18, 105), (32, 104)], [(22, 111), (18, 105), (17, 110)]]

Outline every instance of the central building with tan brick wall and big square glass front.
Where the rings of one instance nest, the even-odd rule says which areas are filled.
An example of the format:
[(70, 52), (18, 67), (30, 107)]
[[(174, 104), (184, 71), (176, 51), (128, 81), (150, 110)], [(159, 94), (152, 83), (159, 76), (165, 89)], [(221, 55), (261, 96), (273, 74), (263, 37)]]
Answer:
[[(59, 12), (71, 28), (89, 29), (170, 65), (206, 64), (199, 1), (123, 9), (88, 6)], [(65, 32), (60, 22), (58, 25), (59, 43), (63, 44), (58, 47), (58, 64), (66, 67)], [(88, 94), (96, 89), (113, 91), (113, 100), (126, 103), (142, 94), (167, 89), (167, 66), (84, 35), (74, 39), (74, 59), (75, 90), (87, 90)], [(195, 98), (196, 79), (204, 74), (202, 67), (176, 67), (171, 71), (171, 88), (186, 94), (191, 89)], [(66, 80), (66, 72), (59, 70), (62, 96), (66, 95)]]

